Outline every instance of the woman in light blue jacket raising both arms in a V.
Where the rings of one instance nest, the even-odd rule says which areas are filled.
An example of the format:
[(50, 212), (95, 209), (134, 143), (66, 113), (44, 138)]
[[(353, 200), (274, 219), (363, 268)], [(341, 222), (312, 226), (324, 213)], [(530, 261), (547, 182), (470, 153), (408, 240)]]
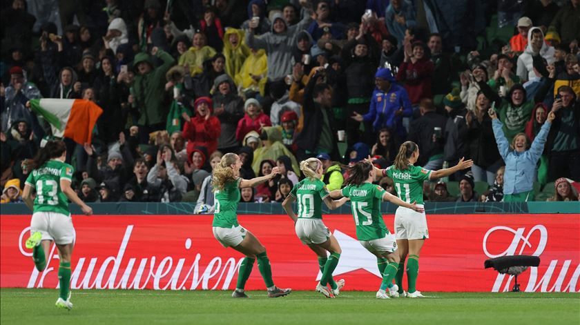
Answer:
[(534, 139), (532, 146), (529, 146), (525, 133), (517, 134), (511, 144), (509, 144), (508, 139), (503, 135), (501, 121), (497, 119), (496, 112), (490, 109), (489, 115), (493, 120), (492, 124), (499, 154), (505, 161), (503, 201), (533, 201), (533, 174), (543, 151), (545, 139), (548, 137), (550, 126), (552, 126), (552, 121), (556, 118), (554, 111), (548, 114), (548, 119), (536, 139)]

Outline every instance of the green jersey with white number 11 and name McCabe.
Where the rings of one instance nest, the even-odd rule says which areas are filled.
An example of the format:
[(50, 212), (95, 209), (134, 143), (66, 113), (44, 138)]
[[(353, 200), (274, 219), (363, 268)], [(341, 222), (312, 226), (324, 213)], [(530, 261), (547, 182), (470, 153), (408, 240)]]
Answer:
[(387, 176), (393, 179), (397, 196), (407, 203), (423, 204), (423, 181), (428, 181), (431, 173), (432, 170), (413, 165), (405, 170), (398, 170), (394, 165), (387, 168)]

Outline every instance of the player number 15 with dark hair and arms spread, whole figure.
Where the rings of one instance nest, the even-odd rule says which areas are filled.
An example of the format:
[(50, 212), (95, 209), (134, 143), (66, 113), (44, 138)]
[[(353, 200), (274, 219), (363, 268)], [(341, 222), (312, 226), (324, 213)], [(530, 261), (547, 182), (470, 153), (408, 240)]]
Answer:
[(369, 161), (358, 161), (349, 167), (349, 178), (345, 182), (345, 187), (342, 190), (332, 191), (331, 196), (343, 195), (350, 198), (356, 237), (363, 247), (376, 256), (380, 273), (383, 275), (383, 282), (380, 283), (376, 297), (388, 299), (389, 295), (398, 297), (396, 285), (389, 288), (389, 295), (387, 288), (397, 273), (399, 256), (395, 252), (397, 250), (395, 236), (389, 232), (383, 221), (383, 215), (380, 214), (380, 203), (389, 201), (416, 213), (424, 213), (425, 210), (416, 202), (402, 201), (384, 188), (374, 185), (372, 183), (374, 179), (373, 165)]

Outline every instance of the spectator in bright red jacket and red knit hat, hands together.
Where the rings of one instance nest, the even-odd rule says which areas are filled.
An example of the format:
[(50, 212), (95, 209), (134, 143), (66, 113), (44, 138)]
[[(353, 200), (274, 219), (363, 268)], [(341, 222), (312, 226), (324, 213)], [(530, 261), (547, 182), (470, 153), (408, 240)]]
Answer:
[(189, 117), (185, 112), (183, 116), (183, 137), (187, 140), (187, 152), (197, 146), (204, 146), (207, 152), (214, 152), (218, 148), (222, 125), (218, 117), (211, 115), (212, 101), (209, 97), (200, 97), (195, 99), (193, 107), (194, 117)]

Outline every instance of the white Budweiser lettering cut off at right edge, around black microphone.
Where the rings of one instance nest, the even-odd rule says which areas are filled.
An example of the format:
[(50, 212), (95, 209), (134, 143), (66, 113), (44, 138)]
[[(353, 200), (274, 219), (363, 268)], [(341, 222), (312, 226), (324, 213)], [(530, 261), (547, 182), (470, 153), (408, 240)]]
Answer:
[[(505, 235), (505, 233), (503, 233), (503, 232), (506, 232), (506, 231), (508, 233), (513, 234), (512, 241), (508, 245), (508, 248), (506, 248), (505, 250), (500, 251), (500, 252), (490, 252), (490, 250), (488, 249), (487, 243), (488, 242), (496, 243), (497, 240), (493, 239), (494, 234), (495, 235)], [(532, 235), (534, 235), (535, 233), (537, 233), (539, 236), (532, 237)], [(535, 239), (536, 237), (539, 237), (539, 240), (537, 242), (534, 242), (531, 240), (532, 238)], [(543, 251), (545, 249), (546, 244), (548, 244), (548, 230), (543, 225), (536, 225), (536, 226), (532, 227), (530, 229), (530, 231), (528, 231), (527, 235), (525, 235), (525, 228), (513, 229), (513, 228), (510, 228), (507, 226), (496, 226), (496, 227), (490, 228), (489, 230), (487, 230), (487, 233), (485, 233), (485, 236), (483, 237), (483, 252), (485, 253), (485, 255), (487, 255), (487, 257), (490, 257), (490, 258), (495, 258), (495, 257), (500, 257), (500, 256), (509, 256), (509, 255), (521, 255), (524, 252), (524, 250), (526, 250), (526, 252), (533, 251), (533, 253), (531, 255), (541, 256), (541, 254), (543, 253)], [(530, 254), (527, 253), (527, 255), (530, 255)], [(570, 265), (572, 264), (572, 259), (566, 259), (563, 261), (560, 273), (557, 275), (556, 282), (554, 282), (553, 286), (548, 289), (548, 284), (552, 280), (552, 275), (554, 275), (554, 269), (556, 268), (558, 262), (559, 261), (557, 259), (552, 259), (552, 261), (550, 261), (550, 265), (545, 270), (543, 277), (541, 277), (541, 279), (539, 281), (538, 281), (538, 277), (539, 277), (538, 268), (531, 267), (530, 268), (530, 278), (528, 279), (528, 285), (525, 287), (525, 291), (526, 292), (533, 292), (533, 291), (537, 291), (538, 289), (540, 289), (541, 292), (552, 292), (552, 291), (556, 291), (556, 292), (570, 291), (571, 293), (578, 292), (580, 290), (577, 288), (578, 277), (580, 276), (580, 264), (577, 264), (575, 266), (575, 270), (572, 271), (572, 277), (570, 277), (570, 281), (568, 282), (568, 285), (566, 285), (562, 288), (563, 283), (564, 283), (564, 279), (566, 279), (566, 277), (568, 277), (568, 270), (570, 270)], [(542, 261), (541, 263), (545, 265), (546, 262)], [(572, 265), (572, 268), (574, 268), (573, 265)], [(492, 288), (492, 292), (499, 292), (505, 277), (506, 277), (505, 274), (499, 274), (496, 277), (496, 280), (494, 282), (494, 286)], [(508, 279), (505, 282), (505, 286), (503, 286), (503, 289), (501, 289), (502, 291), (511, 290), (511, 286), (512, 286), (511, 282), (512, 282), (513, 276), (508, 275), (507, 277), (508, 277)]]

